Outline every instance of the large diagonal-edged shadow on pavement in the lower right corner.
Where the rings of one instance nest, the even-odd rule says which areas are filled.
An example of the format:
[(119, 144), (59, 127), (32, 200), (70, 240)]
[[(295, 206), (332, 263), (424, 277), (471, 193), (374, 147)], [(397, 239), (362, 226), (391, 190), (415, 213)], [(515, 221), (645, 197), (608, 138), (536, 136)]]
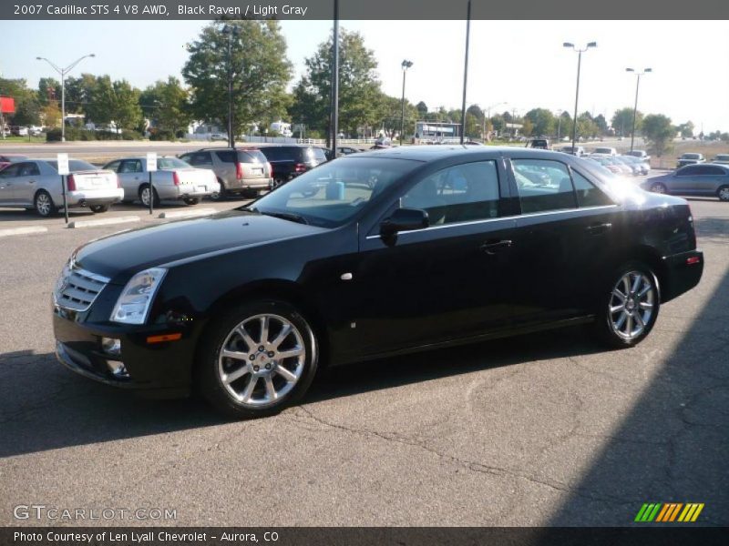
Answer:
[[(729, 243), (725, 218), (701, 219), (697, 231), (702, 238), (720, 237), (722, 244)], [(704, 503), (697, 525), (729, 525), (725, 263), (724, 269), (711, 264), (704, 269), (702, 282), (715, 283), (705, 305), (580, 481), (564, 484), (570, 495), (555, 510), (550, 526), (630, 526), (644, 502)], [(691, 292), (682, 297), (686, 305), (690, 298)], [(545, 543), (552, 543), (549, 537)]]

